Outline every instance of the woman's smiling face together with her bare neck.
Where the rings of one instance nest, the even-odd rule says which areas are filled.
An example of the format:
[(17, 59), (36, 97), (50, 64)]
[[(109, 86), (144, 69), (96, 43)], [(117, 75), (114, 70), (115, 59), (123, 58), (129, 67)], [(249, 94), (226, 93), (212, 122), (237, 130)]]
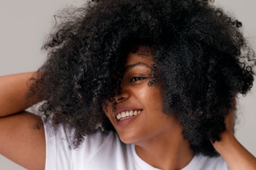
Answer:
[[(177, 169), (182, 169), (193, 158), (193, 152), (189, 141), (180, 135), (182, 126), (175, 115), (168, 117), (162, 112), (160, 84), (163, 82), (148, 86), (153, 78), (151, 68), (154, 66), (152, 54), (147, 53), (143, 46), (135, 53), (129, 53), (124, 64), (121, 92), (115, 96), (115, 109), (112, 109), (110, 103), (106, 114), (121, 141), (135, 144), (135, 150), (141, 159), (148, 160), (155, 167), (160, 161), (163, 169), (174, 163), (179, 165)], [(150, 153), (152, 146), (157, 148), (153, 154)], [(168, 151), (176, 153), (176, 158), (164, 162), (163, 153)]]

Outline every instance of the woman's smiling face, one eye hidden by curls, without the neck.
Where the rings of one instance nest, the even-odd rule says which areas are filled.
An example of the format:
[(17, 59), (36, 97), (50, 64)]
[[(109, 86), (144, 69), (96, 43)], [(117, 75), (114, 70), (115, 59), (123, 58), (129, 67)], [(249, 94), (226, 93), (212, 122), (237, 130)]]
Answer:
[(177, 126), (173, 117), (162, 113), (162, 89), (148, 86), (152, 64), (152, 56), (143, 52), (143, 47), (137, 53), (129, 53), (121, 94), (115, 96), (115, 110), (112, 103), (108, 104), (106, 115), (124, 143), (140, 144), (157, 139)]

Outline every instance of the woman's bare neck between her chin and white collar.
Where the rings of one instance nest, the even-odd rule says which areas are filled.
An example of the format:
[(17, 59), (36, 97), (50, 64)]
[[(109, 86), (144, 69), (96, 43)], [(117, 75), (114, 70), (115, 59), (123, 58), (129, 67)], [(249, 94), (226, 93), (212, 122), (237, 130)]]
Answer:
[(180, 170), (193, 158), (188, 140), (184, 140), (179, 130), (172, 130), (169, 136), (159, 134), (157, 138), (135, 144), (137, 155), (155, 168)]

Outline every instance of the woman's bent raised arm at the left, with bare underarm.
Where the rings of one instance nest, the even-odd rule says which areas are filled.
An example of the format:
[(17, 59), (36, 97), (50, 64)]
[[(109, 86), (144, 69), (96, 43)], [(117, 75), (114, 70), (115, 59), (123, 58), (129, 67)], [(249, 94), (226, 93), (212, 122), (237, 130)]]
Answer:
[(0, 77), (0, 154), (29, 170), (44, 170), (42, 119), (23, 111), (36, 102), (26, 99), (33, 74)]

